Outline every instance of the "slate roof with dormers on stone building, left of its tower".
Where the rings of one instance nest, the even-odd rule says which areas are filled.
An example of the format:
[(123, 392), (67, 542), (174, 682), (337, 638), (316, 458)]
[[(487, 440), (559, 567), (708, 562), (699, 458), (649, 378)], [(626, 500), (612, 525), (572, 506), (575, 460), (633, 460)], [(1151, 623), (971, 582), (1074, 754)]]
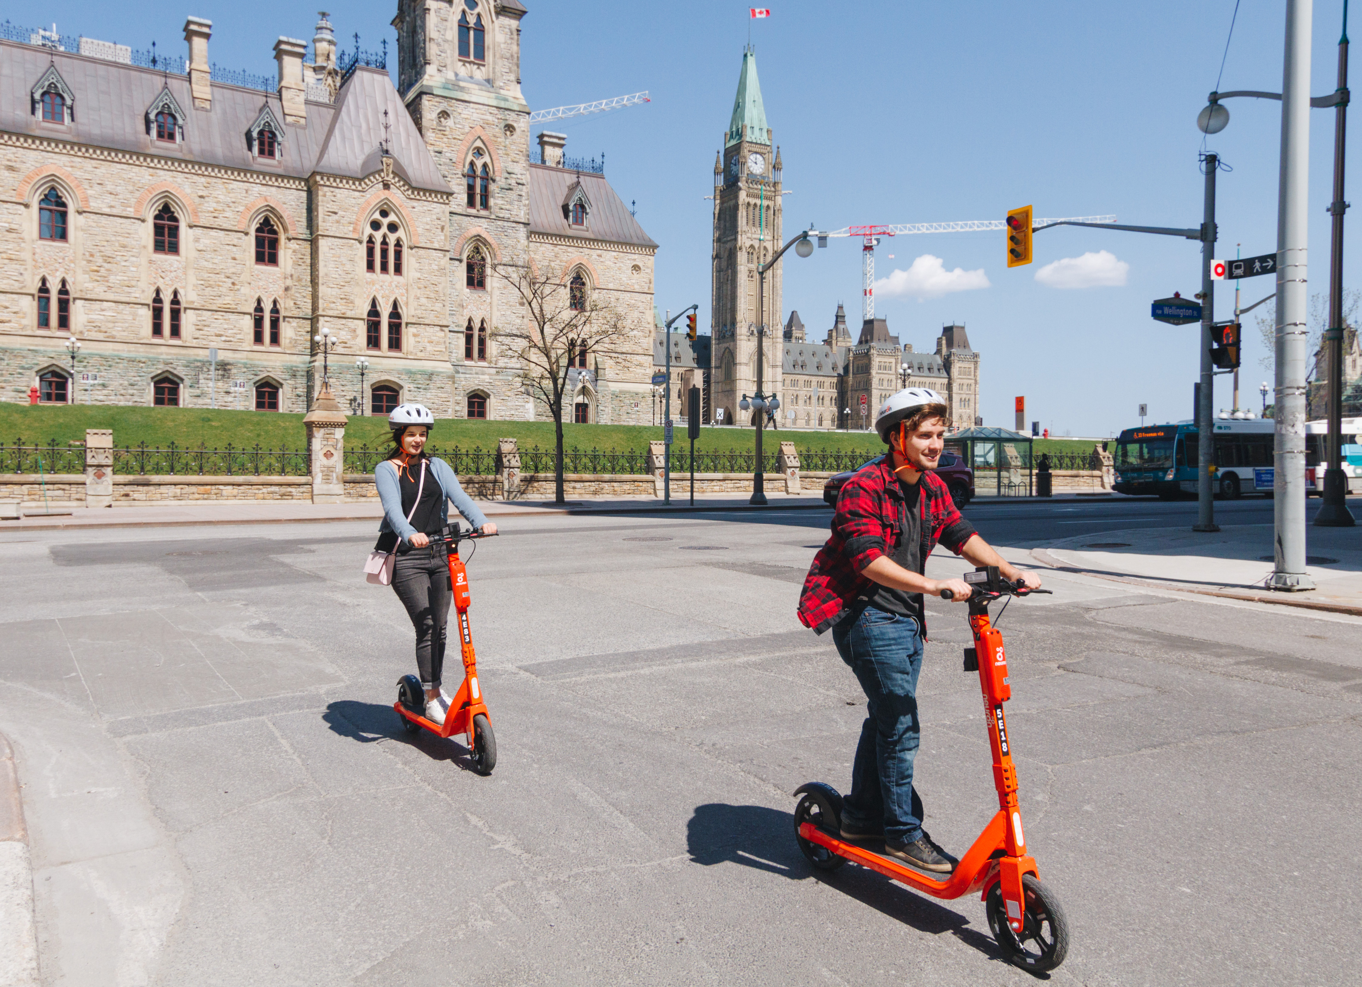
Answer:
[[(44, 124), (33, 113), (30, 93), (49, 63), (75, 95), (71, 124)], [(147, 133), (146, 110), (162, 88), (169, 88), (185, 112), (184, 139), (174, 144)], [(279, 135), (279, 162), (256, 165), (247, 146), (247, 131), (266, 102), (282, 120), (283, 109), (274, 93), (215, 82), (212, 109), (196, 110), (187, 76), (37, 45), (0, 42), (0, 131), (296, 178), (319, 170), (360, 178), (377, 170), (377, 165), (369, 166), (368, 158), (383, 137), (383, 110), (387, 109), (395, 170), (417, 188), (449, 191), (388, 74), (381, 69), (355, 69), (335, 105), (309, 101), (306, 125), (286, 125)], [(364, 167), (368, 170), (361, 170)]]

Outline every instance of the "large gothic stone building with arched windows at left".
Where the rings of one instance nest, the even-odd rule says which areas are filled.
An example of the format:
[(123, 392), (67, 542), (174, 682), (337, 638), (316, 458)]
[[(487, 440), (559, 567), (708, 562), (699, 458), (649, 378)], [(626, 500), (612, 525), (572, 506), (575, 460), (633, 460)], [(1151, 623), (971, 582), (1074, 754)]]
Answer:
[(312, 61), (278, 39), (268, 91), (214, 79), (199, 18), (189, 57), (155, 68), (89, 38), (0, 42), (3, 398), (37, 380), (44, 402), (302, 411), (327, 335), (332, 389), (365, 412), (542, 417), (497, 343), (524, 320), (496, 274), (515, 263), (622, 316), (573, 358), (575, 417), (646, 421), (656, 245), (561, 135), (531, 162), (524, 14), (402, 0), (400, 91), (338, 57), (326, 19)]

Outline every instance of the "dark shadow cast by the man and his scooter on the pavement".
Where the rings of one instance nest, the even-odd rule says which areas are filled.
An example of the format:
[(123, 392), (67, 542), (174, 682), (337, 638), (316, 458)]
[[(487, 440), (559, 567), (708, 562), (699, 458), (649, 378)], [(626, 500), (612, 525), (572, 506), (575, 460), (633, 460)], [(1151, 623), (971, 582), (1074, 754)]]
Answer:
[(929, 935), (949, 933), (967, 946), (1007, 962), (993, 937), (970, 928), (967, 918), (873, 870), (855, 864), (834, 871), (813, 870), (794, 841), (793, 813), (718, 802), (696, 806), (686, 822), (686, 850), (692, 860), (706, 867), (738, 863), (791, 881), (814, 878), (910, 928)]

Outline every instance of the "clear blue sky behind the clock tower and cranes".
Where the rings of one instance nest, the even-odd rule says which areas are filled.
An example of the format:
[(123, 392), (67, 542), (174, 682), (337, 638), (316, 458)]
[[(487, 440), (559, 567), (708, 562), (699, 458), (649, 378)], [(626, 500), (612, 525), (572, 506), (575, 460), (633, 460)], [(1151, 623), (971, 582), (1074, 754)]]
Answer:
[[(568, 154), (603, 151), (616, 191), (637, 201), (639, 221), (661, 244), (659, 309), (697, 301), (700, 324), (708, 325), (711, 206), (704, 196), (733, 109), (748, 7), (524, 1), (522, 84), (533, 108), (651, 93), (646, 106), (557, 128), (568, 133)], [(772, 16), (750, 30), (785, 187), (793, 192), (787, 233), (809, 222), (836, 229), (993, 219), (1024, 204), (1041, 216), (1200, 223), (1203, 136), (1194, 121), (1216, 84), (1234, 0), (763, 1)], [(311, 39), (316, 23), (316, 4), (291, 0), (195, 0), (191, 7), (53, 0), (44, 10), (63, 33), (133, 48), (155, 38), (168, 52), (184, 49), (187, 15), (207, 16), (212, 61), (262, 74), (274, 72), (278, 35)], [(377, 48), (384, 37), (392, 48), (395, 3), (331, 0), (328, 10), (342, 38), (358, 31), (364, 48)], [(22, 11), (5, 16), (27, 23)], [(1333, 90), (1340, 18), (1342, 0), (1314, 4), (1312, 94)], [(1280, 91), (1283, 25), (1283, 0), (1242, 1), (1222, 90)], [(1219, 176), (1218, 255), (1233, 257), (1235, 244), (1245, 255), (1267, 253), (1276, 248), (1280, 103), (1227, 105), (1230, 125), (1207, 143), (1234, 169)], [(1354, 133), (1359, 125), (1354, 121)], [(1332, 110), (1312, 112), (1310, 143), (1314, 294), (1328, 290)], [(1362, 196), (1357, 180), (1351, 192)], [(1350, 214), (1347, 285), (1359, 270), (1358, 223), (1362, 216)], [(1036, 280), (1054, 261), (1102, 250), (1111, 257), (1061, 264), (1043, 278), (1047, 283)], [(793, 250), (786, 257), (782, 317), (798, 309), (819, 339), (839, 301), (859, 319), (855, 241), (835, 240), (808, 260)], [(880, 278), (918, 294), (967, 289), (919, 300), (889, 297), (881, 287), (876, 308), (915, 349), (932, 349), (951, 320), (968, 327), (982, 354), (986, 423), (1009, 425), (1015, 395), (1026, 395), (1028, 419), (1056, 434), (1106, 436), (1137, 423), (1141, 402), (1155, 421), (1190, 415), (1196, 327), (1155, 323), (1148, 306), (1175, 290), (1200, 290), (1197, 244), (1061, 227), (1038, 234), (1036, 261), (1026, 268), (1005, 267), (1001, 233), (900, 237), (881, 244), (876, 257)], [(933, 259), (940, 272), (923, 278), (936, 272)], [(895, 268), (903, 272), (896, 279)], [(956, 268), (962, 275), (952, 278)], [(1054, 286), (1073, 283), (1075, 275), (1106, 283)], [(1244, 285), (1245, 305), (1273, 289), (1268, 278)], [(1222, 289), (1218, 316), (1231, 308), (1233, 291)], [(1268, 302), (1258, 312), (1271, 309)], [(1252, 320), (1241, 406), (1256, 408), (1257, 385), (1272, 373), (1258, 363), (1264, 350)], [(1218, 378), (1216, 407), (1229, 404), (1229, 380)]]

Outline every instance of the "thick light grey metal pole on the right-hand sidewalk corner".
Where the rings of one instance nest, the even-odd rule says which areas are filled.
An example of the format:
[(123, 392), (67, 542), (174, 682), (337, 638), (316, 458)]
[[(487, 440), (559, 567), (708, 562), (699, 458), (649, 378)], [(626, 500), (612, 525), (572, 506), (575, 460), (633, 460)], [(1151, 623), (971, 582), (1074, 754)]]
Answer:
[(1310, 165), (1312, 0), (1287, 0), (1278, 191), (1276, 412), (1269, 589), (1313, 589), (1305, 572), (1306, 245)]

